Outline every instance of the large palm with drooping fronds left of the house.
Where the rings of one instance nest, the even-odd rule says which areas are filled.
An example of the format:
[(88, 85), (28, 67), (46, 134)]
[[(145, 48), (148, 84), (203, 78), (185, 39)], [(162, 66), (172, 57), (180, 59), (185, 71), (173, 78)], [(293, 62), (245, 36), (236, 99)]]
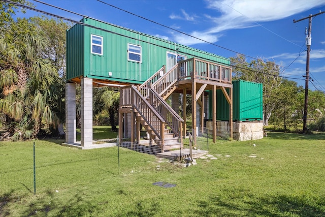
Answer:
[[(44, 33), (18, 19), (0, 36), (0, 111), (13, 140), (34, 138), (43, 125), (58, 125), (62, 84), (50, 59)], [(60, 84), (60, 85), (59, 85)]]

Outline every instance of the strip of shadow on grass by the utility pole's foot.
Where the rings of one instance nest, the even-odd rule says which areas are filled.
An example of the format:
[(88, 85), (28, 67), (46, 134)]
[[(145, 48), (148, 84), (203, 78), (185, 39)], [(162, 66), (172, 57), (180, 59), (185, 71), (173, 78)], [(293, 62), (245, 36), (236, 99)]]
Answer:
[(267, 138), (269, 138), (269, 139), (283, 139), (283, 140), (324, 140), (325, 133), (297, 134), (297, 133), (268, 132)]

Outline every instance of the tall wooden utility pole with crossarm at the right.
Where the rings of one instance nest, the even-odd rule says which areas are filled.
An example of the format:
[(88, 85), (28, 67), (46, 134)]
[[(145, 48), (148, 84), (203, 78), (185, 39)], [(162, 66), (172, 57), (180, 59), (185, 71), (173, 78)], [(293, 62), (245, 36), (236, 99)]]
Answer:
[(310, 45), (311, 45), (311, 18), (317, 15), (323, 14), (319, 12), (318, 14), (309, 15), (308, 17), (302, 18), (300, 20), (294, 20), (294, 23), (309, 19), (308, 31), (306, 31), (306, 46), (307, 46), (307, 57), (306, 57), (306, 80), (305, 80), (305, 105), (304, 105), (304, 124), (303, 124), (303, 133), (307, 133), (307, 107), (308, 107), (308, 82), (309, 82), (309, 54), (310, 54)]

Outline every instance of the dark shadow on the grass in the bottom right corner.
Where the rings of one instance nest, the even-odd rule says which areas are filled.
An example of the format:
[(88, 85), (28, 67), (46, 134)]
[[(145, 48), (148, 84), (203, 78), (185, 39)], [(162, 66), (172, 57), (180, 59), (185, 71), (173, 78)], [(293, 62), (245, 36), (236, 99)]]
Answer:
[[(246, 195), (247, 196), (247, 195)], [(293, 197), (280, 195), (253, 199), (213, 197), (199, 201), (198, 216), (325, 216), (325, 200), (322, 198)]]

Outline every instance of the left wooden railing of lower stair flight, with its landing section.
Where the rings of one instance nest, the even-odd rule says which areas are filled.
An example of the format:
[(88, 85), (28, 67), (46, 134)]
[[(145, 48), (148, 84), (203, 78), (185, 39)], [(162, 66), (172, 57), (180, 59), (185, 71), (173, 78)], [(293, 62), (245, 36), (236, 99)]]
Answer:
[(165, 120), (133, 86), (120, 88), (120, 106), (133, 106), (159, 139), (164, 138)]

